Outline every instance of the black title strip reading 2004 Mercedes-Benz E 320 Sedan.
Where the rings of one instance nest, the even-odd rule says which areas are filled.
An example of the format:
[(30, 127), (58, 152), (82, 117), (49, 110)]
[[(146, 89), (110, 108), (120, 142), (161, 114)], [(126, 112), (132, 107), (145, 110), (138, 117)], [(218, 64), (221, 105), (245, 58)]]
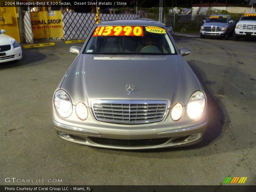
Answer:
[[(160, 0), (0, 0), (0, 7), (108, 7), (120, 8), (127, 7), (133, 9), (135, 7), (159, 7)], [(251, 4), (244, 4), (243, 1), (221, 1), (221, 3), (212, 0), (179, 0), (179, 1), (163, 1), (162, 7), (222, 7), (222, 6), (243, 6), (251, 7)], [(224, 3), (223, 3), (224, 2)]]

